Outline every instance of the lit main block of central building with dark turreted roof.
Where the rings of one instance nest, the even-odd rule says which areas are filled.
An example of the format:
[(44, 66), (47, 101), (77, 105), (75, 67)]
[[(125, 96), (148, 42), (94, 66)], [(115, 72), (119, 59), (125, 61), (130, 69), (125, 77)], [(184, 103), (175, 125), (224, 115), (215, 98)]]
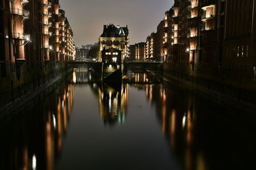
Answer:
[(122, 51), (122, 60), (129, 57), (129, 30), (127, 26), (104, 25), (103, 33), (99, 37), (99, 61), (102, 61), (102, 50), (110, 48)]

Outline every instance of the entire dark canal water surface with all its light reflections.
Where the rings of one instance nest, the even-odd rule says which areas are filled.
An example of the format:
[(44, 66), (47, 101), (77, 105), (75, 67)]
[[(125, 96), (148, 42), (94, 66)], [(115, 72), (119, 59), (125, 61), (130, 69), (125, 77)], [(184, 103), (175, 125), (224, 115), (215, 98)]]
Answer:
[(1, 122), (0, 169), (255, 169), (253, 112), (141, 71), (61, 82)]

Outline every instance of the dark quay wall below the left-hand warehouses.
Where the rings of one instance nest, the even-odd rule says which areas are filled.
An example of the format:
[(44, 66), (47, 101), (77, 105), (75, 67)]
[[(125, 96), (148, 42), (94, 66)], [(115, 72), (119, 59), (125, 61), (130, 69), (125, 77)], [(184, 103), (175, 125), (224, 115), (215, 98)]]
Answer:
[(9, 109), (12, 109), (13, 104), (19, 103), (19, 106), (22, 106), (24, 101), (35, 97), (72, 70), (72, 67), (68, 67), (65, 62), (47, 62), (42, 66), (28, 62), (23, 67), (24, 75), (20, 81), (8, 78), (1, 81), (0, 113), (8, 112)]

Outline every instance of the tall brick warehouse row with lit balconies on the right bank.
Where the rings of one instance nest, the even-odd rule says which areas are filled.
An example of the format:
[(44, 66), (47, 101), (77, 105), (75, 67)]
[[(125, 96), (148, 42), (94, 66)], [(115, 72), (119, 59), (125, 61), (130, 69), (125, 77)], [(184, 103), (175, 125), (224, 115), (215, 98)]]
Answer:
[(163, 57), (166, 76), (252, 101), (255, 5), (253, 0), (175, 0), (148, 36), (146, 58)]

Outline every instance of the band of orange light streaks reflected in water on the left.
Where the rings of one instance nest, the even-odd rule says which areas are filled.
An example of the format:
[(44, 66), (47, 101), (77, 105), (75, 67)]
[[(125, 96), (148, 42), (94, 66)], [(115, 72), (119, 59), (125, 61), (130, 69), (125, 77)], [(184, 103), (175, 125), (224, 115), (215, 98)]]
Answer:
[[(47, 169), (54, 169), (54, 154), (61, 152), (63, 134), (74, 103), (74, 85), (69, 84), (57, 97), (56, 111), (47, 113), (45, 152)], [(55, 146), (55, 147), (54, 147)]]

